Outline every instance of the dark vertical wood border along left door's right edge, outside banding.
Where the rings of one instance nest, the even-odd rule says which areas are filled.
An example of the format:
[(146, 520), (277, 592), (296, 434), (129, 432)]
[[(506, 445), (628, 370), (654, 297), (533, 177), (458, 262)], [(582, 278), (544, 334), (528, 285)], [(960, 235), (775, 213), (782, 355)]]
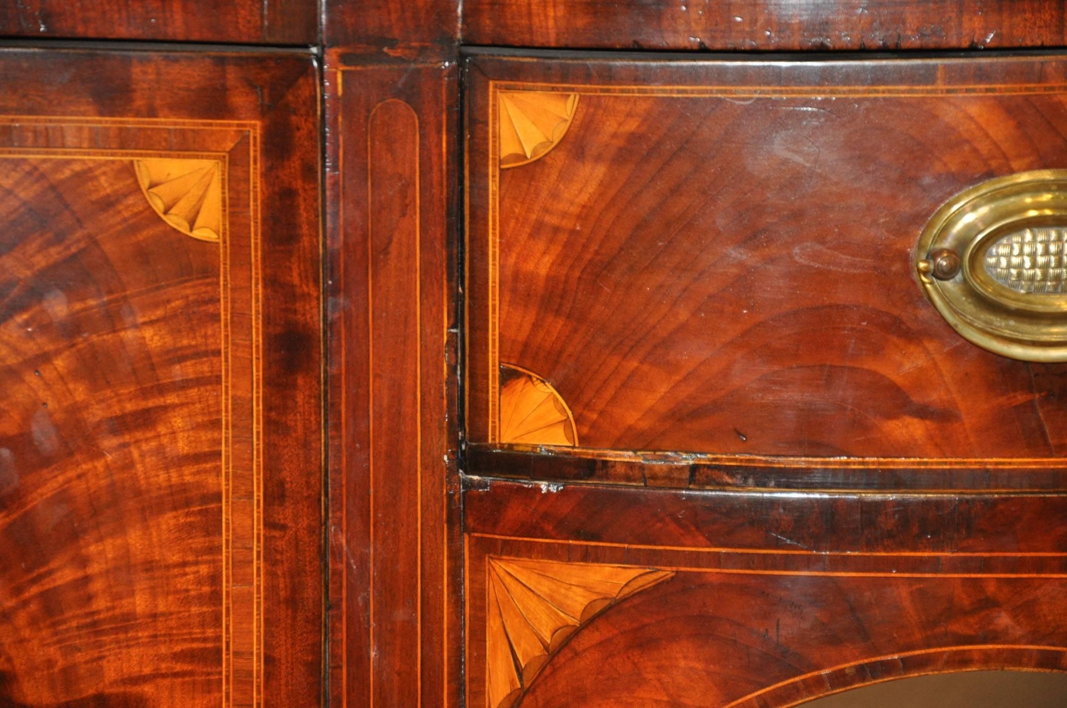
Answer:
[(268, 146), (260, 177), (268, 708), (323, 702), (321, 73), (315, 59), (304, 64), (276, 100), (261, 104)]

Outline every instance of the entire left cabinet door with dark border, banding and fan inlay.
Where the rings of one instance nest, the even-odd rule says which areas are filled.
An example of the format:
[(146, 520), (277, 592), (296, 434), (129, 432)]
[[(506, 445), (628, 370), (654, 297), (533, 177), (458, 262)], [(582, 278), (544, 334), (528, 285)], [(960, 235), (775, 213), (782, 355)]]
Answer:
[(312, 58), (0, 69), (0, 703), (316, 705)]

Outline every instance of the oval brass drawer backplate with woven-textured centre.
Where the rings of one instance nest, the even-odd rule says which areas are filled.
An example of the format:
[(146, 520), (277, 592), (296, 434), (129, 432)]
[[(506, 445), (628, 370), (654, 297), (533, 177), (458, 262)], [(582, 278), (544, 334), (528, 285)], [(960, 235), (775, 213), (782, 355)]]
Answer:
[(1067, 170), (998, 177), (938, 209), (915, 246), (927, 297), (965, 338), (1067, 361)]

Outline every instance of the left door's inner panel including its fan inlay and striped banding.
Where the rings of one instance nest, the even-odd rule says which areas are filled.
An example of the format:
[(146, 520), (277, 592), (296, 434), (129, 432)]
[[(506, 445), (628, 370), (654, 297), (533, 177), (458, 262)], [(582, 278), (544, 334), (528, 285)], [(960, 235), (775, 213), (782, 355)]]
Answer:
[[(27, 124), (63, 127), (4, 124), (15, 134)], [(258, 131), (241, 128), (221, 128), (216, 152), (0, 149), (12, 414), (4, 486), (13, 497), (4, 557), (20, 559), (9, 568), (27, 574), (5, 583), (26, 586), (9, 598), (25, 601), (14, 617), (20, 629), (5, 633), (13, 691), (34, 676), (26, 695), (47, 699), (47, 677), (71, 662), (66, 672), (81, 670), (82, 681), (102, 674), (121, 685), (124, 646), (144, 633), (173, 638), (148, 645), (154, 663), (216, 646), (200, 672), (170, 688), (176, 695), (222, 690), (228, 701), (236, 682), (252, 697), (261, 660), (258, 237), (250, 219)], [(230, 156), (226, 143), (243, 149)], [(243, 183), (230, 180), (230, 158)], [(232, 268), (234, 256), (244, 268)], [(126, 568), (117, 586), (109, 582), (116, 557)], [(42, 588), (38, 575), (57, 582)], [(64, 590), (95, 598), (85, 620), (107, 626), (95, 648), (52, 645), (71, 622), (60, 610)], [(145, 614), (139, 606), (149, 598), (187, 609)], [(211, 654), (220, 665), (206, 660)]]

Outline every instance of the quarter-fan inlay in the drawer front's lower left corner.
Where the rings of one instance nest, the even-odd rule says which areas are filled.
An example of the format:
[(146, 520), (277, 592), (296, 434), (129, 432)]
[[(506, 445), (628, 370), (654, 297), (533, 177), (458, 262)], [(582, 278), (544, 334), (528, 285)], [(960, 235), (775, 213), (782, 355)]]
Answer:
[(525, 369), (500, 365), (499, 441), (576, 446), (571, 409), (547, 381)]

